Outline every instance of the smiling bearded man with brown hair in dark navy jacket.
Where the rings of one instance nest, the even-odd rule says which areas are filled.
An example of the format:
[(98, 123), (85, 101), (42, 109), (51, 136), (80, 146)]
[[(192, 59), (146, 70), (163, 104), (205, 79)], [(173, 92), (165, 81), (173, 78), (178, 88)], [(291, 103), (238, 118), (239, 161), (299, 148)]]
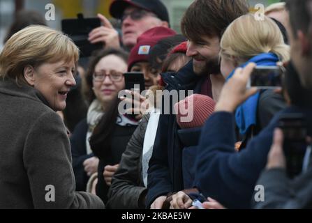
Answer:
[[(188, 38), (186, 54), (193, 60), (176, 74), (162, 75), (166, 90), (193, 90), (218, 100), (225, 82), (218, 66), (221, 33), (233, 20), (246, 13), (248, 6), (244, 0), (194, 1), (181, 21), (181, 31)], [(163, 98), (168, 98), (165, 96)], [(147, 207), (169, 208), (168, 202), (164, 201), (170, 199), (170, 193), (184, 189), (181, 163), (184, 145), (181, 145), (178, 130), (174, 114), (161, 114), (149, 161)], [(194, 136), (199, 134), (195, 132)]]

